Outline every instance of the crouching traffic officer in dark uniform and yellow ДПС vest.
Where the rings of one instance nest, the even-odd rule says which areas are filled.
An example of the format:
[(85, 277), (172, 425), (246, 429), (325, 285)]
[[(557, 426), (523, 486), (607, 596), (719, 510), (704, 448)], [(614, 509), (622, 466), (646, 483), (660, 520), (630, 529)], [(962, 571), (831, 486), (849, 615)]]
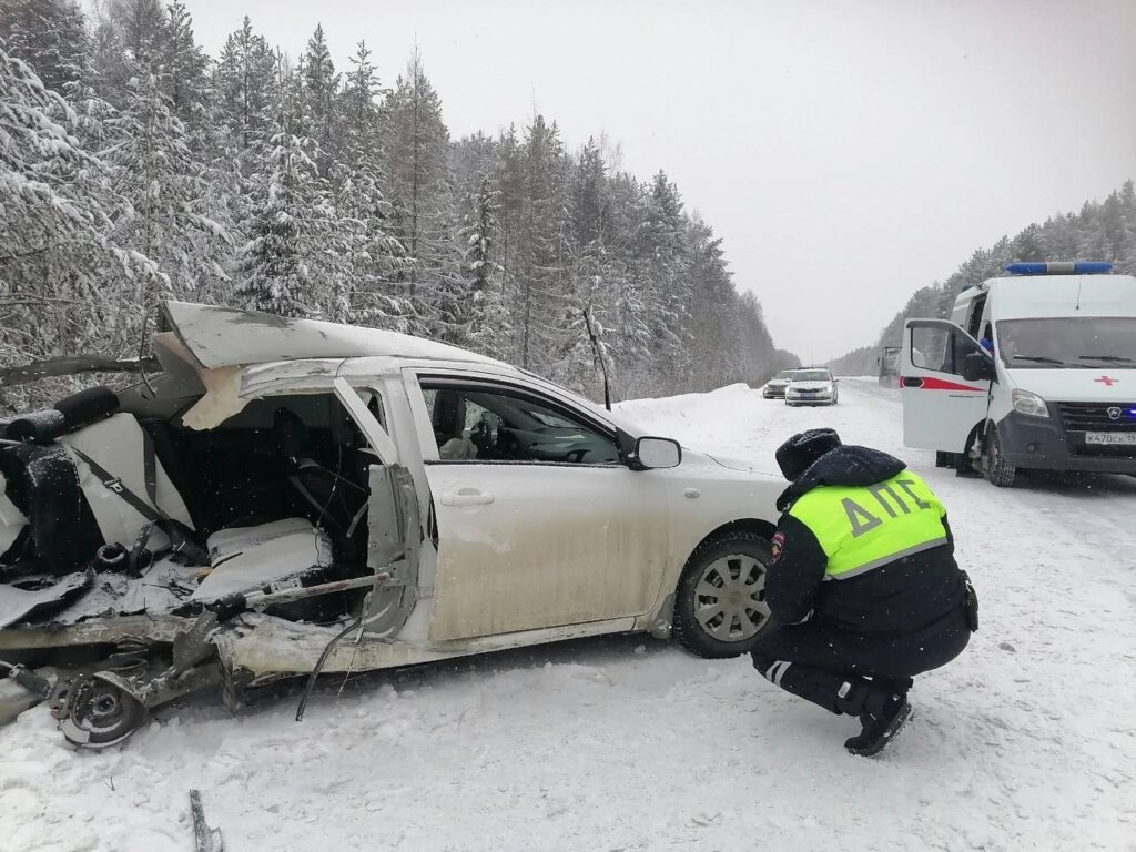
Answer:
[(914, 675), (967, 646), (978, 604), (954, 561), (946, 510), (899, 459), (833, 429), (777, 450), (792, 484), (766, 577), (772, 623), (753, 665), (833, 713), (860, 719), (844, 746), (876, 754), (911, 715)]

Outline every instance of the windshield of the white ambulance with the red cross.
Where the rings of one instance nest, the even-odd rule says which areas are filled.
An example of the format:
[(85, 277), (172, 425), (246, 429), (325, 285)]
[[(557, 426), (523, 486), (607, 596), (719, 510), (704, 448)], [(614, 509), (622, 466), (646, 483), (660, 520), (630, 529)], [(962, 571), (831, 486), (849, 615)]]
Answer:
[(1014, 369), (1136, 368), (1136, 317), (1046, 317), (997, 323), (1002, 362)]

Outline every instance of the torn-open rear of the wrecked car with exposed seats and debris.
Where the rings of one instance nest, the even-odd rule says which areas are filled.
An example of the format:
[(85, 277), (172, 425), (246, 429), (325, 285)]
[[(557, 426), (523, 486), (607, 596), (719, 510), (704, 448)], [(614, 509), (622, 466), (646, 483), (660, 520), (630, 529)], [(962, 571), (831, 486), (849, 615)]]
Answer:
[[(81, 746), (258, 685), (220, 653), (244, 616), (323, 627), (329, 651), (406, 615), (384, 569), (417, 546), (408, 486), (329, 383), (234, 401), (172, 332), (154, 349), (164, 371), (133, 387), (0, 424), (0, 666)], [(377, 392), (353, 395), (384, 424)]]

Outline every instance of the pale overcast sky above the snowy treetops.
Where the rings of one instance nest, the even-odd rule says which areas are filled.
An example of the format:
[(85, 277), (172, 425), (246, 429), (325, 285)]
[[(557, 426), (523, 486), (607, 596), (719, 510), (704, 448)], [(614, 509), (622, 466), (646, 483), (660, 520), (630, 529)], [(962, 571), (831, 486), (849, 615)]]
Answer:
[(725, 239), (805, 361), (874, 342), (918, 287), (1136, 176), (1136, 0), (187, 0), (217, 56), (248, 14), (384, 83), (417, 41), (451, 134), (607, 133)]

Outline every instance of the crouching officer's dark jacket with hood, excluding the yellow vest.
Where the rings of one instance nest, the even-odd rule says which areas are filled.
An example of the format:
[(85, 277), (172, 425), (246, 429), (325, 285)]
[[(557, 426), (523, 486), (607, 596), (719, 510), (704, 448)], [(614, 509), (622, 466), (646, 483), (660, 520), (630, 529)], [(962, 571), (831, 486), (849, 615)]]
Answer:
[(811, 613), (861, 633), (912, 633), (962, 607), (962, 577), (945, 517), (946, 544), (858, 577), (825, 582), (824, 549), (812, 531), (788, 513), (815, 487), (867, 487), (897, 476), (905, 467), (878, 450), (845, 445), (822, 456), (785, 490), (777, 501), (785, 513), (766, 577), (766, 601), (776, 621), (796, 624)]

